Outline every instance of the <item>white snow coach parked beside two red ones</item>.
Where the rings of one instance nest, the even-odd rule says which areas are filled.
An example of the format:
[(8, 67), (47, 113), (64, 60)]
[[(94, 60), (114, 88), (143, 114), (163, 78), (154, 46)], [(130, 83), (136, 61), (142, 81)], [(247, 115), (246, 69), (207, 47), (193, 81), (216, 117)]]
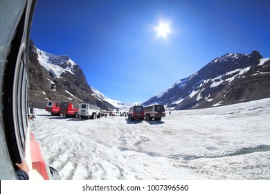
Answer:
[(100, 107), (82, 103), (79, 105), (78, 114), (80, 118), (91, 118), (91, 119), (100, 118)]

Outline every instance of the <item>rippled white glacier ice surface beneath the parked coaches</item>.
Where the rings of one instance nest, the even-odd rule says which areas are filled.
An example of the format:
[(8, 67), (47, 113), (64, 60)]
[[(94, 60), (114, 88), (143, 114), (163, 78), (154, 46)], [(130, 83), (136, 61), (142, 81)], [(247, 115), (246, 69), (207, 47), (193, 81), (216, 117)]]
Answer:
[(270, 179), (270, 98), (161, 121), (35, 113), (30, 127), (61, 179)]

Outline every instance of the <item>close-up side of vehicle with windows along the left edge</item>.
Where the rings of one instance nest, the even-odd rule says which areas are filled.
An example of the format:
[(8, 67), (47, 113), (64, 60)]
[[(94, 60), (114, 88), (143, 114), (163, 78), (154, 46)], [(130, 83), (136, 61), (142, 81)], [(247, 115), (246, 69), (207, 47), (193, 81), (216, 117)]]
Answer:
[[(16, 163), (29, 168), (25, 179), (59, 178), (30, 132), (35, 120), (28, 100), (28, 44), (36, 0), (0, 0), (0, 179), (18, 179)], [(21, 191), (24, 193), (26, 191)]]

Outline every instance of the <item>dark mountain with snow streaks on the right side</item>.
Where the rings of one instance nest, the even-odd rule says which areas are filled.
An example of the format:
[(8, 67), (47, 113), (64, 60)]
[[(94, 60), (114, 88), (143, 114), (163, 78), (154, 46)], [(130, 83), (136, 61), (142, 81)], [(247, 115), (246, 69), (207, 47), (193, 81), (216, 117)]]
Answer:
[(215, 58), (143, 104), (193, 109), (267, 97), (270, 97), (270, 59), (253, 51), (249, 55), (228, 53)]

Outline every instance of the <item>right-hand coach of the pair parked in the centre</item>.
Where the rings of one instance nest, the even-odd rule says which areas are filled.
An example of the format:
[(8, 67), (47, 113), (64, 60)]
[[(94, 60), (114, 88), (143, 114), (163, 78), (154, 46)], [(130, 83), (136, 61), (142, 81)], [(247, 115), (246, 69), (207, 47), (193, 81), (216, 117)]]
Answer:
[(162, 117), (165, 117), (164, 105), (151, 105), (143, 108), (145, 111), (145, 119), (147, 121), (152, 121), (154, 118), (155, 121), (161, 121)]

